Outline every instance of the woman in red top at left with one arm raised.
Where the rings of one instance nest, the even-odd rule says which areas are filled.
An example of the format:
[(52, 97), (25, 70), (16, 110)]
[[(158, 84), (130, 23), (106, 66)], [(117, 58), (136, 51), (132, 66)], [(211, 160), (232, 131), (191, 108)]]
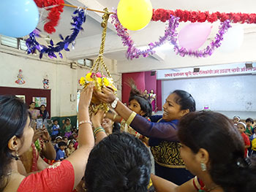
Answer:
[(16, 162), (20, 155), (29, 150), (34, 134), (26, 104), (15, 96), (0, 96), (0, 191), (69, 192), (75, 189), (83, 177), (94, 146), (88, 110), (93, 88), (94, 85), (87, 86), (80, 96), (78, 150), (66, 160), (28, 177), (18, 172)]

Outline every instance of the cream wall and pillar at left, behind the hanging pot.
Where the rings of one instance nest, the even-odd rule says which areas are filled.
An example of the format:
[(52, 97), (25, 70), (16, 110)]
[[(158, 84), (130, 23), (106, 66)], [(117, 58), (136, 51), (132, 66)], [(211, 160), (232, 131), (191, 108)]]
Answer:
[[(65, 54), (64, 54), (65, 55)], [(116, 72), (116, 61), (106, 60), (110, 73), (113, 72), (113, 79), (121, 88), (121, 74)], [(109, 66), (112, 66), (110, 68)], [(23, 70), (23, 77), (26, 81), (23, 85), (15, 83), (19, 69)], [(42, 80), (48, 75), (51, 90), (51, 116), (72, 116), (77, 115), (76, 101), (70, 101), (70, 94), (76, 98), (77, 90), (80, 89), (78, 80), (89, 72), (89, 68), (70, 68), (70, 61), (64, 58), (39, 60), (38, 55), (26, 55), (24, 51), (15, 50), (0, 45), (0, 86), (17, 88), (40, 88)], [(121, 97), (121, 90), (118, 91)]]

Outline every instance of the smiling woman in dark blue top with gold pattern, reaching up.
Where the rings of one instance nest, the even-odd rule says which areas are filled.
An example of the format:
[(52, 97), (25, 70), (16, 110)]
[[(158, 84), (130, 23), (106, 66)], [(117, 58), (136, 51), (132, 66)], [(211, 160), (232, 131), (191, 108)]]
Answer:
[(129, 110), (108, 88), (102, 92), (94, 91), (95, 96), (111, 104), (127, 124), (149, 137), (148, 144), (154, 155), (155, 174), (177, 185), (190, 180), (193, 175), (185, 169), (181, 159), (178, 140), (178, 120), (189, 112), (195, 111), (195, 100), (186, 91), (176, 90), (167, 97), (163, 105), (163, 115), (154, 115), (151, 122)]

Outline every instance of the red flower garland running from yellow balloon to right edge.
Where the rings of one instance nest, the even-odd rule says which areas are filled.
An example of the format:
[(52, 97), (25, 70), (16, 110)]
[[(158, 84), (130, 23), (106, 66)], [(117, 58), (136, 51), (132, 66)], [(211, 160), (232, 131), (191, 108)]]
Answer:
[(187, 11), (187, 10), (167, 10), (167, 9), (153, 9), (153, 16), (151, 20), (157, 21), (161, 20), (165, 22), (166, 20), (170, 19), (170, 15), (174, 15), (180, 18), (179, 21), (190, 21), (192, 23), (195, 22), (206, 22), (214, 23), (215, 21), (219, 20), (224, 22), (225, 20), (230, 20), (231, 23), (249, 23), (255, 24), (256, 23), (256, 14), (255, 13), (225, 13), (225, 12), (200, 12), (200, 11)]

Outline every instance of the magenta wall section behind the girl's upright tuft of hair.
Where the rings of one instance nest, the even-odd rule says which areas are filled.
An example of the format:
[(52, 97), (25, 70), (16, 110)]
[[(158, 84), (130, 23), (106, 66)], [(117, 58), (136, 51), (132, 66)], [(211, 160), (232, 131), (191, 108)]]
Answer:
[(131, 88), (125, 83), (129, 80), (129, 78), (132, 78), (132, 80), (135, 80), (135, 83), (137, 85), (137, 88), (139, 90), (145, 89), (145, 73), (144, 72), (136, 72), (136, 73), (123, 73), (122, 74), (122, 95), (121, 100), (123, 103), (127, 103), (129, 101), (129, 91), (131, 91)]

